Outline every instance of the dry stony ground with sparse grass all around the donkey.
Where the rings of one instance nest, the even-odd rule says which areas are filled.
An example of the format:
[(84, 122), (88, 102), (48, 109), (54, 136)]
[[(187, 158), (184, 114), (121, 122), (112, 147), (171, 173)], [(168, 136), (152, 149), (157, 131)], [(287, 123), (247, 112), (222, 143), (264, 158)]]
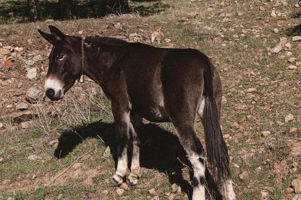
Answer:
[[(223, 83), (221, 123), (237, 199), (293, 199), (299, 191), (292, 180), (301, 178), (301, 40), (293, 41), (298, 2), (131, 3), (160, 12), (0, 26), (0, 199), (187, 199), (192, 194), (191, 165), (171, 123), (145, 121), (137, 131), (143, 174), (137, 186), (123, 191), (109, 184), (115, 171), (113, 118), (94, 82), (85, 78), (56, 102), (44, 92), (37, 103), (26, 100), (30, 87), (44, 85), (51, 45), (37, 28), (48, 31), (48, 24), (70, 35), (191, 47), (211, 56)], [(22, 102), (24, 110), (16, 110)], [(203, 141), (198, 118), (195, 125)], [(220, 199), (207, 182), (215, 190), (208, 199)], [(149, 193), (152, 188), (158, 197)]]

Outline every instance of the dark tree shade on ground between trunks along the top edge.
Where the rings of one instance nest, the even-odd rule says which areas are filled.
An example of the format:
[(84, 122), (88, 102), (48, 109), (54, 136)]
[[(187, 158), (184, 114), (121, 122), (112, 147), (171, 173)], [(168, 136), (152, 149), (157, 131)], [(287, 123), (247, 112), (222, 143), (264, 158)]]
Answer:
[[(116, 0), (74, 0), (72, 15), (74, 18), (103, 17), (109, 13), (138, 12), (141, 15), (154, 14), (164, 11), (168, 4), (159, 0), (150, 1), (144, 5), (141, 0), (133, 0), (134, 5), (124, 8)], [(144, 2), (144, 0), (143, 0)], [(45, 19), (60, 19), (60, 6), (58, 0), (39, 1), (39, 17)], [(0, 1), (0, 24), (10, 22), (27, 22), (26, 0), (4, 0)]]

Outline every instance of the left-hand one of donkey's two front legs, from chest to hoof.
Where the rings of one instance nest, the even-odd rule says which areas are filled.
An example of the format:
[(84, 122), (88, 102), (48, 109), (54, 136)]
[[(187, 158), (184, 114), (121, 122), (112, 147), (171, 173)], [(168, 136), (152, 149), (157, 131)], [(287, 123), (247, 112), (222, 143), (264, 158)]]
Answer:
[(117, 168), (112, 177), (113, 184), (121, 184), (122, 178), (127, 172), (127, 149), (129, 141), (129, 129), (130, 129), (130, 116), (129, 109), (126, 106), (122, 106), (119, 103), (111, 103), (112, 113), (114, 116), (114, 122), (117, 132)]

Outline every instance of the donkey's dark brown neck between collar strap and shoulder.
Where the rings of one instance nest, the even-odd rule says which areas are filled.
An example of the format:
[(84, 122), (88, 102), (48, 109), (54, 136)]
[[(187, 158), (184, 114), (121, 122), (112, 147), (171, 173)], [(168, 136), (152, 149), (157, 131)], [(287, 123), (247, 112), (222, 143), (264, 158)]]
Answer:
[(121, 55), (119, 47), (101, 43), (85, 43), (83, 74), (101, 85), (108, 70)]

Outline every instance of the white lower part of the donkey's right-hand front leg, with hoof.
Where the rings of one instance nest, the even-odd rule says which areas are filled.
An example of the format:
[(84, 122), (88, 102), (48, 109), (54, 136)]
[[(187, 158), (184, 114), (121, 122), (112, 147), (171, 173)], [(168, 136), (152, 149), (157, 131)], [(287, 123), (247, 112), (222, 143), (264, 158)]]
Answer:
[(136, 185), (138, 183), (138, 177), (140, 175), (139, 154), (139, 146), (137, 145), (137, 142), (134, 141), (130, 173), (128, 176), (128, 181), (131, 185)]

